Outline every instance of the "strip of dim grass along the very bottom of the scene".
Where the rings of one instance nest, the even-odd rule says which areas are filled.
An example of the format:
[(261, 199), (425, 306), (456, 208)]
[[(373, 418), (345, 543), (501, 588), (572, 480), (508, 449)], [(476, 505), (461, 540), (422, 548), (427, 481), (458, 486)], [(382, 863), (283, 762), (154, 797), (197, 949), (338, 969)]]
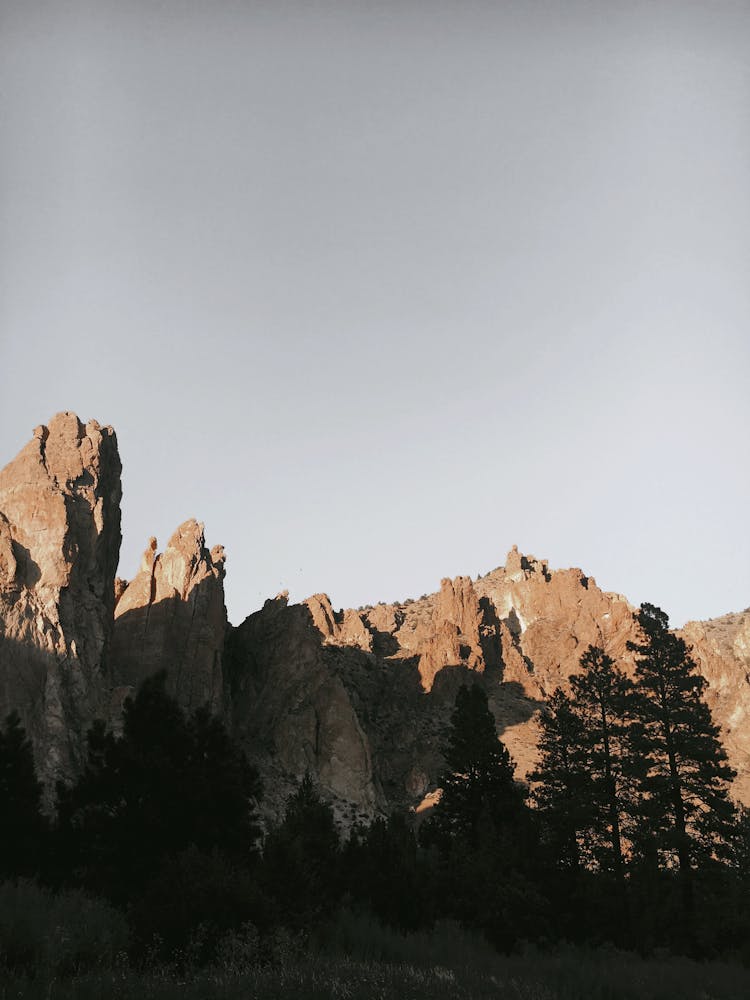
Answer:
[(750, 972), (731, 963), (644, 960), (560, 949), (497, 956), (493, 971), (306, 956), (241, 973), (215, 968), (138, 972), (127, 966), (70, 980), (11, 978), (1, 1000), (738, 1000)]

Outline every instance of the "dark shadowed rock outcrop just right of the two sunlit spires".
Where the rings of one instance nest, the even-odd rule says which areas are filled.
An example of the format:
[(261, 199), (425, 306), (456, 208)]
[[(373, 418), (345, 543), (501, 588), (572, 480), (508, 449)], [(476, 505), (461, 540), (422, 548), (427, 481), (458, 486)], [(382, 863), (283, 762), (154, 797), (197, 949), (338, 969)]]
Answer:
[(291, 607), (280, 595), (231, 631), (233, 728), (260, 766), (270, 813), (309, 770), (342, 819), (373, 814), (370, 742), (343, 676), (348, 657), (367, 655), (346, 644), (324, 595)]

